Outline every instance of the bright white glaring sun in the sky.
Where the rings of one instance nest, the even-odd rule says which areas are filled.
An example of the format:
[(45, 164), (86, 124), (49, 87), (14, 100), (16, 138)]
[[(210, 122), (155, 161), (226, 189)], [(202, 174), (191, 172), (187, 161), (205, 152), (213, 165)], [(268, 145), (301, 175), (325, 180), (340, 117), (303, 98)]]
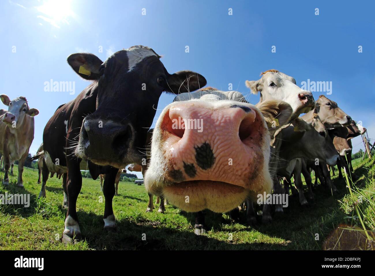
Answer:
[(66, 21), (73, 15), (71, 2), (71, 0), (49, 0), (37, 7), (37, 10), (55, 22)]

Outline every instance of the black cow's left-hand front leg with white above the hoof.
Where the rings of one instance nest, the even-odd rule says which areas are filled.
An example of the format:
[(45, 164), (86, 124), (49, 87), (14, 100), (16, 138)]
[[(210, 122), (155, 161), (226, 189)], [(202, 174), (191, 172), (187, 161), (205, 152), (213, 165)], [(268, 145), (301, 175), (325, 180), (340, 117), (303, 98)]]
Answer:
[[(68, 213), (66, 213), (65, 229), (62, 241), (65, 244), (80, 240), (82, 237), (77, 216), (77, 198), (82, 188), (82, 175), (80, 171), (80, 159), (68, 160), (68, 174), (66, 176), (66, 190), (68, 191)], [(43, 164), (43, 183), (44, 168)], [(48, 176), (47, 176), (48, 177)], [(107, 200), (106, 200), (107, 204)]]

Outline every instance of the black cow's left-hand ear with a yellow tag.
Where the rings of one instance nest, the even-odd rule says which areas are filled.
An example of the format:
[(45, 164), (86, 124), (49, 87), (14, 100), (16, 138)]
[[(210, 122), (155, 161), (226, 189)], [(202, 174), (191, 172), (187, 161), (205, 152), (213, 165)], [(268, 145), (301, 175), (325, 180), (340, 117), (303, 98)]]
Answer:
[(67, 59), (73, 70), (85, 80), (98, 80), (103, 62), (95, 54), (77, 53), (71, 54)]

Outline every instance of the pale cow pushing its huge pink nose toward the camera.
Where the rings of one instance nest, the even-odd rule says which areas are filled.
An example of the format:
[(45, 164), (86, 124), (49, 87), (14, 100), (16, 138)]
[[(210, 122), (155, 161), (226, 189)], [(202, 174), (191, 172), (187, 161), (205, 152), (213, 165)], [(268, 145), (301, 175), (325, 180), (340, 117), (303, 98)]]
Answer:
[(196, 234), (204, 232), (202, 210), (227, 212), (271, 192), (270, 136), (293, 112), (283, 101), (254, 106), (237, 91), (204, 92), (177, 96), (163, 109), (144, 175), (148, 193), (196, 212)]

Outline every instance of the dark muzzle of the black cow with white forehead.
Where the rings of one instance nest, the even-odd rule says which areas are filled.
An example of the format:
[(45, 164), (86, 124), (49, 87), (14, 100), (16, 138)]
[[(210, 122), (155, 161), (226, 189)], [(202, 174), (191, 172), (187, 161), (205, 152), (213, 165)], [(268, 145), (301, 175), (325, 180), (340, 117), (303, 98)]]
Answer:
[(129, 149), (133, 148), (134, 136), (135, 131), (128, 122), (86, 117), (75, 154), (98, 165), (120, 168), (127, 159)]

